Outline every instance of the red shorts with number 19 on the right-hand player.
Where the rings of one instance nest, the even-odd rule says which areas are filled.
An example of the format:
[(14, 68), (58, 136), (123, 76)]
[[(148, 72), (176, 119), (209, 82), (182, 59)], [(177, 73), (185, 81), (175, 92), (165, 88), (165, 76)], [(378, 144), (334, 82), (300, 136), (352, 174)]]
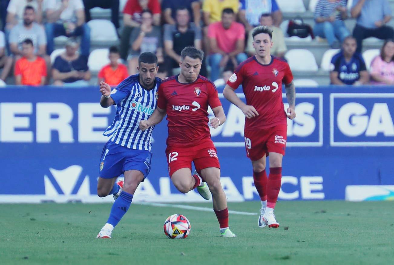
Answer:
[(245, 148), (246, 156), (252, 161), (259, 160), (269, 152), (284, 155), (287, 141), (287, 124), (279, 124), (273, 127), (246, 130)]

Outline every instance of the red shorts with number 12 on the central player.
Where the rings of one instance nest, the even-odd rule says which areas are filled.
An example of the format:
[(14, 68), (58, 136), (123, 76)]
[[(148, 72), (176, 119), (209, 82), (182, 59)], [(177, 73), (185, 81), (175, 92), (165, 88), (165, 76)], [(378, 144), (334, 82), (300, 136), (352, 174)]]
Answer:
[(211, 139), (204, 139), (196, 145), (187, 147), (182, 145), (168, 145), (167, 149), (165, 149), (165, 155), (167, 157), (170, 177), (178, 169), (189, 168), (191, 170), (191, 162), (194, 163), (199, 174), (201, 169), (207, 167), (220, 168), (216, 148)]

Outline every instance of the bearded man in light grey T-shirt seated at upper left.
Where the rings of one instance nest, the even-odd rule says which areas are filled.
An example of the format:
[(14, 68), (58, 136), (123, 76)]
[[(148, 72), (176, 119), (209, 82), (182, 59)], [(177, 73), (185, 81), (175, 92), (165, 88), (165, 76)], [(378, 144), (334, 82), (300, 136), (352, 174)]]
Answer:
[(9, 46), (11, 53), (14, 55), (22, 56), (24, 54), (22, 51), (22, 42), (25, 39), (30, 39), (33, 41), (34, 54), (41, 57), (46, 56), (45, 31), (43, 27), (37, 22), (34, 22), (34, 20), (34, 7), (26, 6), (23, 13), (23, 23), (14, 26), (9, 33)]

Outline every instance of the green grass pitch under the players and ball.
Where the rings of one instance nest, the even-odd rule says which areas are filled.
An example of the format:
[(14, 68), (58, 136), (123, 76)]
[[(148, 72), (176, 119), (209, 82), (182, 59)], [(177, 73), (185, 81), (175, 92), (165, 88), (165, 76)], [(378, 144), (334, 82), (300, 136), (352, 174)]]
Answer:
[[(211, 204), (189, 204), (212, 207)], [(286, 201), (281, 226), (230, 214), (236, 238), (219, 237), (213, 212), (134, 204), (112, 233), (96, 239), (110, 204), (0, 204), (0, 263), (5, 264), (392, 264), (393, 202)], [(258, 212), (260, 202), (229, 203)], [(167, 239), (165, 219), (184, 214), (187, 239)]]

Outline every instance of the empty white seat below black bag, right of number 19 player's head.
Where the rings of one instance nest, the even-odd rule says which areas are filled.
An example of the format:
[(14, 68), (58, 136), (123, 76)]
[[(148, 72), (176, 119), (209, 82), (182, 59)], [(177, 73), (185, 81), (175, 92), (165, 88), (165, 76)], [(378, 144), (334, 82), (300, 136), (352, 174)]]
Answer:
[(292, 49), (284, 55), (292, 71), (317, 71), (318, 64), (313, 53), (304, 49)]

